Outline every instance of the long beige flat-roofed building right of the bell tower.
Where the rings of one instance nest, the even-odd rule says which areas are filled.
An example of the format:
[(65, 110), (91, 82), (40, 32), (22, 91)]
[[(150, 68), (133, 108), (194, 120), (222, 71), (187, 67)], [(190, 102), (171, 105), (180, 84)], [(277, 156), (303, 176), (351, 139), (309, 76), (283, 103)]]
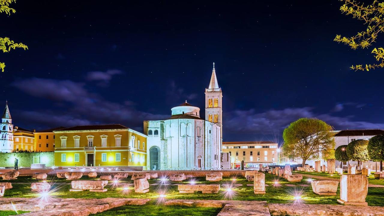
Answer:
[(278, 163), (278, 145), (271, 141), (223, 142), (222, 152), (230, 154), (231, 168), (239, 168), (242, 160), (248, 168)]

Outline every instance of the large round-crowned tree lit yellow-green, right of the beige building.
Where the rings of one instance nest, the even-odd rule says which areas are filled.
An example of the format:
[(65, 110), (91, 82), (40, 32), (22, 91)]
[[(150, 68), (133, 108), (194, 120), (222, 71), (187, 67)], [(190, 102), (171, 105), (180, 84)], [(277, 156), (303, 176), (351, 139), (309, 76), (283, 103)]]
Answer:
[(283, 132), (283, 151), (289, 158), (301, 158), (303, 167), (310, 159), (329, 157), (335, 142), (332, 126), (315, 118), (300, 118)]

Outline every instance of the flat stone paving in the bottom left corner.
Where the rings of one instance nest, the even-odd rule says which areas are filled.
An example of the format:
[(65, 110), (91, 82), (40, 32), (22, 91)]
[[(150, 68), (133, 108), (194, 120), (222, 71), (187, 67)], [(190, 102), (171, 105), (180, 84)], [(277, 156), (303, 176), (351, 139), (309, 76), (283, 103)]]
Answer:
[(0, 198), (0, 210), (31, 211), (25, 216), (87, 216), (124, 205), (143, 205), (150, 199)]

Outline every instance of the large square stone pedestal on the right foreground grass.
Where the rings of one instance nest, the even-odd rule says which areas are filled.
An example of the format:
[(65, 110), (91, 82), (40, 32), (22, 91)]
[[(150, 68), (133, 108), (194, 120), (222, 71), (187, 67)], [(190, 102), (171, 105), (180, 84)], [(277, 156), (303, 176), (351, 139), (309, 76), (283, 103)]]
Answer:
[(347, 174), (340, 177), (338, 203), (352, 206), (367, 206), (368, 179), (364, 175)]

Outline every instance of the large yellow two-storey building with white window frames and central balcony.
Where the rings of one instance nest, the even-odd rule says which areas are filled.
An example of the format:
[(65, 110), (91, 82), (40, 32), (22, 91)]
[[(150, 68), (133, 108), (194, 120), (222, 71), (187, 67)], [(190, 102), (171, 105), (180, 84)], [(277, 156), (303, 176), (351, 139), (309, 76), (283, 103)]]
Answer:
[(53, 133), (55, 166), (146, 167), (147, 136), (126, 126), (75, 126)]

